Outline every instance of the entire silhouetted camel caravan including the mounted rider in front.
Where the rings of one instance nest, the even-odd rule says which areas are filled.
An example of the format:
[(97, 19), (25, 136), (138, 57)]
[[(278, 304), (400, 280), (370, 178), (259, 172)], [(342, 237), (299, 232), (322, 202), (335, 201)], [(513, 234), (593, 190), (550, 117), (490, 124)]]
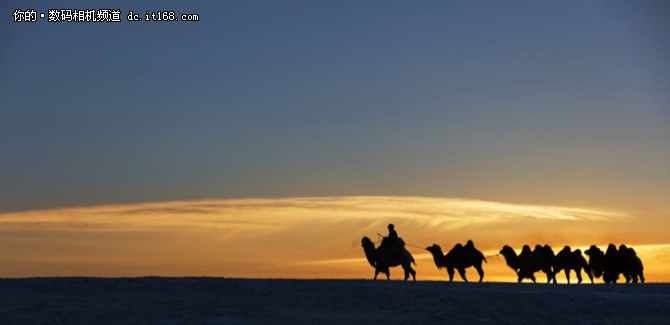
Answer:
[[(379, 273), (385, 274), (386, 278), (390, 280), (389, 268), (400, 265), (405, 271), (405, 281), (409, 279), (410, 275), (416, 281), (416, 271), (412, 268), (412, 264), (416, 265), (414, 257), (405, 248), (406, 244), (402, 238), (398, 238), (392, 224), (389, 225), (389, 236), (382, 238), (379, 247), (375, 247), (375, 243), (368, 237), (363, 237), (361, 245), (370, 266), (375, 269), (375, 280)], [(479, 282), (484, 280), (482, 262), (488, 262), (484, 254), (475, 248), (472, 240), (468, 240), (465, 245), (456, 244), (446, 254), (436, 244), (423, 249), (433, 255), (433, 261), (438, 269), (447, 269), (450, 282), (454, 280), (454, 270), (458, 271), (463, 281), (468, 282), (465, 269), (469, 267), (474, 267), (477, 270)], [(591, 283), (593, 283), (593, 278), (599, 279), (601, 277), (605, 283), (616, 283), (620, 275), (624, 277), (626, 283), (644, 283), (642, 261), (631, 247), (621, 245), (617, 249), (614, 244), (609, 244), (607, 250), (603, 252), (600, 248), (592, 245), (584, 254), (589, 257), (588, 262), (580, 249), (572, 250), (570, 246), (565, 246), (557, 254), (554, 254), (549, 245), (536, 245), (533, 250), (529, 245), (524, 245), (521, 253), (517, 255), (512, 247), (505, 245), (498, 255), (505, 258), (507, 266), (516, 273), (519, 283), (523, 279), (530, 279), (535, 283), (536, 272), (545, 273), (547, 283), (552, 281), (556, 283), (556, 274), (561, 271), (565, 273), (568, 283), (570, 283), (571, 271), (575, 271), (577, 283), (582, 283), (582, 271), (589, 277)]]

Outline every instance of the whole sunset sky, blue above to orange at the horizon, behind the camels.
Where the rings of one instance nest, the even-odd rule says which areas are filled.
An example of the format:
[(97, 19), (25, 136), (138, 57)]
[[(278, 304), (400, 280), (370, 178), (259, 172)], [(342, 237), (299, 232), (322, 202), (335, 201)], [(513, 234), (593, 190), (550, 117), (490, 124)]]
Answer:
[(90, 6), (0, 4), (0, 277), (367, 277), (360, 238), (396, 220), (492, 253), (631, 244), (670, 278), (666, 1), (12, 16)]

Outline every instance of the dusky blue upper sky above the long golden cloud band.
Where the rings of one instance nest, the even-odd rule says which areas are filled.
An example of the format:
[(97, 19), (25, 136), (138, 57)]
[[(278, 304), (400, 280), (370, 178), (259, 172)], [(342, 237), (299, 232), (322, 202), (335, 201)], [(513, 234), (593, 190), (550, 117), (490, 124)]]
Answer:
[[(402, 195), (665, 207), (664, 1), (0, 7), (0, 211)], [(174, 10), (198, 22), (128, 22)]]

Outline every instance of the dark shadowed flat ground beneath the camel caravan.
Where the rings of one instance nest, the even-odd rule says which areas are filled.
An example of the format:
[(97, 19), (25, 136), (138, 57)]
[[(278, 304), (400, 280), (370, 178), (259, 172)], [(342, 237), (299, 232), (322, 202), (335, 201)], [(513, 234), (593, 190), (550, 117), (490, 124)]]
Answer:
[(0, 279), (0, 324), (668, 324), (670, 284)]

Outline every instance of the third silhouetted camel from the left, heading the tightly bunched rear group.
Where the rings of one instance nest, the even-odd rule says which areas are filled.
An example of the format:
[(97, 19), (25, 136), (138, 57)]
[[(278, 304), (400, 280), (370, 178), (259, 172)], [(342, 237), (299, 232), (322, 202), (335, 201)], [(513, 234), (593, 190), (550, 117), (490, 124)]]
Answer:
[(552, 279), (556, 283), (556, 275), (552, 271), (554, 263), (554, 251), (545, 245), (536, 245), (535, 250), (531, 251), (530, 246), (524, 245), (521, 254), (518, 256), (512, 247), (505, 245), (500, 250), (500, 255), (505, 258), (507, 266), (517, 274), (517, 282), (521, 283), (523, 279), (531, 279), (535, 283), (535, 272), (542, 271), (547, 274), (547, 283)]

